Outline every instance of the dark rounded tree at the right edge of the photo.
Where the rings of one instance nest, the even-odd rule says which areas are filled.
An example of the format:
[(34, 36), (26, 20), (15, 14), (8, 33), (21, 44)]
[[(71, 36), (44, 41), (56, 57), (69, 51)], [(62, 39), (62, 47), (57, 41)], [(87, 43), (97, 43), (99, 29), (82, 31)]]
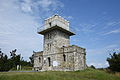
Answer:
[(120, 72), (120, 53), (114, 52), (113, 55), (107, 58), (109, 69), (112, 71)]

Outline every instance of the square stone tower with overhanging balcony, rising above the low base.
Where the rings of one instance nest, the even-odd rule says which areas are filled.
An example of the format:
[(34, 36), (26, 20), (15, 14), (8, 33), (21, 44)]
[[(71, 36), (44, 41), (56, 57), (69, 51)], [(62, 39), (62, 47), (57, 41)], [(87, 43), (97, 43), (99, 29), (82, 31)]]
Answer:
[(43, 55), (58, 53), (58, 49), (70, 45), (70, 36), (74, 35), (69, 29), (69, 22), (58, 15), (45, 20), (44, 28), (39, 34), (44, 35)]

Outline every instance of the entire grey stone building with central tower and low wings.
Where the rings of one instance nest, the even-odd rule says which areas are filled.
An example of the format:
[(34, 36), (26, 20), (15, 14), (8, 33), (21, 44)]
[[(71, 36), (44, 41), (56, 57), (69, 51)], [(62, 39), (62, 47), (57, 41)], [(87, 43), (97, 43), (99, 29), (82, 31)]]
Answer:
[(75, 71), (86, 67), (84, 48), (70, 45), (71, 32), (69, 21), (58, 15), (45, 20), (38, 29), (44, 36), (43, 51), (34, 53), (35, 70)]

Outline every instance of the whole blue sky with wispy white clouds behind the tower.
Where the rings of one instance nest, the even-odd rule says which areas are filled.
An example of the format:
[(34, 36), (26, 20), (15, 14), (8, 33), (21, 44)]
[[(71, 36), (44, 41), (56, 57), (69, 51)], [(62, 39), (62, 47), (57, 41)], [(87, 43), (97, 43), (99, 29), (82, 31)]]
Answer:
[(0, 0), (0, 48), (17, 49), (24, 60), (43, 50), (37, 28), (58, 14), (70, 21), (71, 45), (86, 48), (87, 65), (108, 67), (109, 53), (120, 49), (120, 0)]

